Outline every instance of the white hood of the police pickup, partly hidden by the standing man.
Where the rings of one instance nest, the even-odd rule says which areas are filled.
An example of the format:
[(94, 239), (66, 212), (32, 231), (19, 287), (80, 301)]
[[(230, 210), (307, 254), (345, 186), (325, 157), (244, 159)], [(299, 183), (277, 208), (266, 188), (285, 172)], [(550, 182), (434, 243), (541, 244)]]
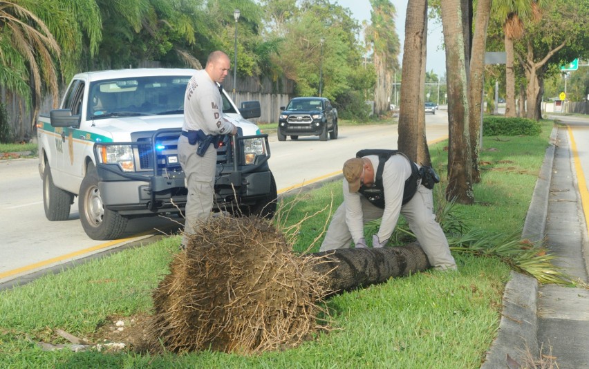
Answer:
[[(243, 135), (260, 134), (260, 129), (256, 124), (243, 119), (239, 114), (225, 114), (225, 118), (241, 127)], [(131, 141), (131, 133), (156, 131), (158, 129), (182, 128), (184, 116), (176, 115), (147, 115), (139, 117), (113, 117), (101, 120), (95, 120), (94, 124), (97, 129), (102, 130), (102, 134), (111, 136), (115, 142)]]

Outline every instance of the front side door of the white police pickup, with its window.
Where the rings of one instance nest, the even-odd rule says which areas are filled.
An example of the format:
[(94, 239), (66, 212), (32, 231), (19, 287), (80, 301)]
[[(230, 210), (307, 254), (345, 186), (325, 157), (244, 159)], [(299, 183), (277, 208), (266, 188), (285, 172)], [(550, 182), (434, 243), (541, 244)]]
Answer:
[[(82, 102), (84, 101), (84, 81), (76, 80), (72, 82), (66, 96), (62, 108), (71, 109), (72, 115), (82, 114)], [(57, 171), (61, 172), (60, 176), (53, 176), (55, 185), (68, 191), (77, 193), (80, 186), (80, 179), (75, 180), (81, 176), (81, 171), (74, 165), (75, 147), (74, 138), (76, 131), (80, 127), (56, 127), (55, 128), (55, 164)], [(78, 152), (78, 155), (80, 153)], [(57, 179), (59, 178), (59, 180)], [(58, 182), (59, 181), (59, 182)], [(62, 182), (63, 181), (63, 182)], [(77, 182), (75, 185), (74, 182)]]

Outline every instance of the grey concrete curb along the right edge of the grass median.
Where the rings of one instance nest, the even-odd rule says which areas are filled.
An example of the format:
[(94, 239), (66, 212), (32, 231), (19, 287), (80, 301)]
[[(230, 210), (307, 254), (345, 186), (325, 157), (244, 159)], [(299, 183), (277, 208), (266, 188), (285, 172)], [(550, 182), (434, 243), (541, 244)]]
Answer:
[[(548, 216), (548, 196), (554, 164), (554, 142), (558, 127), (552, 129), (550, 146), (546, 149), (530, 207), (527, 210), (522, 238), (533, 242), (545, 237)], [(536, 316), (538, 281), (530, 276), (512, 272), (503, 294), (503, 311), (496, 339), (493, 341), (482, 369), (507, 368), (507, 355), (524, 362), (528, 352), (538, 359), (538, 319)]]

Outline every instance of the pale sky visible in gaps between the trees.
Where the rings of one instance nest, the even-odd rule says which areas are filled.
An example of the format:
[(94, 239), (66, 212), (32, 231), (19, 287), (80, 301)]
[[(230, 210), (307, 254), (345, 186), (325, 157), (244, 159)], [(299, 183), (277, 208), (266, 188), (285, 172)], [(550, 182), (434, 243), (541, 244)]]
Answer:
[[(352, 17), (362, 25), (362, 21), (370, 20), (370, 12), (372, 7), (368, 0), (333, 0), (333, 3), (338, 3), (344, 8), (350, 9)], [(397, 18), (395, 19), (395, 28), (399, 35), (401, 45), (401, 53), (399, 54), (399, 65), (403, 61), (403, 46), (405, 39), (405, 13), (407, 8), (407, 0), (391, 0), (393, 6), (397, 10)], [(442, 37), (442, 23), (436, 21), (429, 21), (427, 26), (427, 61), (426, 70), (443, 77), (446, 75), (446, 54), (440, 48), (444, 43)]]

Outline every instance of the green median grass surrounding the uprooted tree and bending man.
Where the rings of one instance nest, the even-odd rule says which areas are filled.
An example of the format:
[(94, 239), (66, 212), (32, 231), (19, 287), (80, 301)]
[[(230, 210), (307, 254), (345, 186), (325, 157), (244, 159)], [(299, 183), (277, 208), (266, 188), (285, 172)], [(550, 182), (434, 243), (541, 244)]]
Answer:
[[(485, 234), (521, 231), (543, 161), (552, 122), (539, 137), (484, 138), (483, 178), (474, 186), (476, 203), (456, 205), (471, 229)], [(431, 147), (442, 174), (447, 142)], [(491, 149), (493, 150), (487, 150)], [(341, 182), (284, 199), (281, 229), (290, 228), (295, 252), (321, 233), (342, 201)], [(479, 368), (496, 335), (509, 267), (494, 257), (454, 253), (458, 272), (423, 272), (392, 278), (327, 301), (332, 332), (298, 348), (241, 356), (218, 352), (163, 354), (133, 352), (46, 352), (35, 342), (64, 343), (53, 330), (91, 337), (109, 316), (148, 313), (151, 290), (167, 273), (180, 239), (91, 261), (0, 292), (1, 368)]]

